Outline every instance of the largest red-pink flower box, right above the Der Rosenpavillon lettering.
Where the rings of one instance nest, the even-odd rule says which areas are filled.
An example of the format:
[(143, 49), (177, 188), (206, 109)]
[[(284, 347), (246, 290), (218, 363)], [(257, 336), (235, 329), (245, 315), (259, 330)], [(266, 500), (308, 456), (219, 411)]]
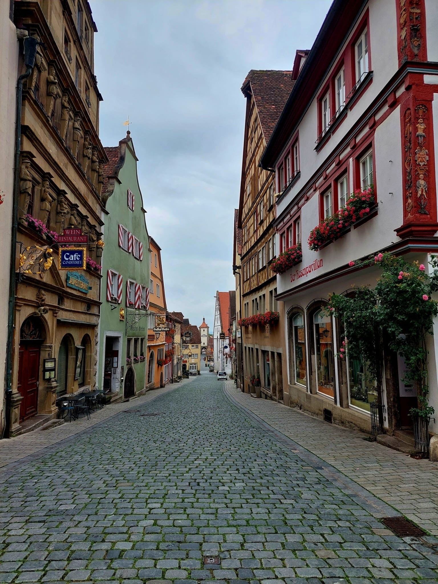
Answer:
[(350, 225), (363, 220), (374, 211), (375, 207), (373, 187), (366, 190), (355, 190), (350, 199), (347, 200), (345, 207), (341, 207), (331, 217), (321, 221), (312, 229), (308, 238), (309, 249), (318, 251), (335, 239), (342, 237), (349, 230)]

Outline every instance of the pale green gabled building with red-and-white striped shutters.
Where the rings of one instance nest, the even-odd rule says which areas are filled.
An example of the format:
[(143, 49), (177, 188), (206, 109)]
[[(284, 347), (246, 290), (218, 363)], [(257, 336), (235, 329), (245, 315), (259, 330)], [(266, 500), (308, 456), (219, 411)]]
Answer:
[(151, 262), (134, 144), (127, 131), (105, 148), (102, 189), (105, 253), (98, 385), (128, 398), (145, 391)]

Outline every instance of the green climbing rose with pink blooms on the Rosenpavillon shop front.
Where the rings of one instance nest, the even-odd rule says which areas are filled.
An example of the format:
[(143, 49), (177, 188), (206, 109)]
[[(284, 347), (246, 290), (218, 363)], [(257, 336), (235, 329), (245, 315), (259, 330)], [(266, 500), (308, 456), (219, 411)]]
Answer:
[(404, 380), (415, 384), (418, 408), (411, 415), (428, 418), (434, 409), (427, 394), (427, 335), (432, 334), (433, 317), (438, 303), (432, 293), (438, 290), (438, 261), (432, 256), (431, 272), (418, 262), (408, 263), (401, 256), (378, 253), (363, 262), (351, 261), (349, 266), (374, 265), (381, 270), (376, 287), (353, 287), (349, 296), (331, 294), (327, 311), (340, 317), (345, 326), (342, 354), (367, 363), (370, 381), (377, 387), (383, 383), (382, 344), (404, 357)]

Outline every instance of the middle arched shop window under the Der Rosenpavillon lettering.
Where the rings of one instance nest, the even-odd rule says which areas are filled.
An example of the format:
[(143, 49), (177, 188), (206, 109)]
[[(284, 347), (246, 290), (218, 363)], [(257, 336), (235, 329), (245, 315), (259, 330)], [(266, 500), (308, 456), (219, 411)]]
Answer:
[(333, 323), (324, 311), (314, 314), (315, 361), (317, 367), (317, 391), (335, 397), (335, 363), (333, 359)]

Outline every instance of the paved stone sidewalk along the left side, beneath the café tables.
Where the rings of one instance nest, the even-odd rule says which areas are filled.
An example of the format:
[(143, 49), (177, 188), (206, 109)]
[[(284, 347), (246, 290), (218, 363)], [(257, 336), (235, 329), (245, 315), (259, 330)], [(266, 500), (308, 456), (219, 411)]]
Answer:
[(84, 430), (115, 416), (125, 409), (133, 408), (136, 405), (147, 404), (147, 402), (152, 401), (159, 395), (176, 390), (178, 387), (190, 383), (193, 379), (194, 377), (189, 377), (189, 379), (183, 379), (180, 383), (168, 384), (163, 388), (148, 391), (144, 395), (140, 395), (140, 397), (131, 398), (129, 402), (107, 405), (106, 408), (93, 412), (89, 420), (79, 418), (75, 422), (65, 422), (61, 426), (56, 426), (49, 430), (41, 430), (39, 428), (33, 432), (17, 436), (16, 438), (0, 440), (0, 468), (26, 457), (33, 455), (40, 456), (41, 450), (54, 446), (75, 434), (84, 432)]

